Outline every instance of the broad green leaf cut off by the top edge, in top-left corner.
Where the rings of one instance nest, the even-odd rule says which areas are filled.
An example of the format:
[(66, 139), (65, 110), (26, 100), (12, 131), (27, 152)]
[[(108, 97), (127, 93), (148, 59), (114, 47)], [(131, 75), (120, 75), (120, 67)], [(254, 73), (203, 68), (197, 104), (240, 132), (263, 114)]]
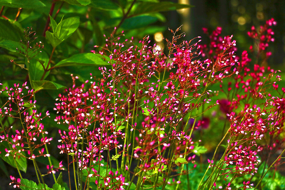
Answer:
[(0, 0), (0, 6), (13, 8), (36, 9), (46, 5), (39, 0)]

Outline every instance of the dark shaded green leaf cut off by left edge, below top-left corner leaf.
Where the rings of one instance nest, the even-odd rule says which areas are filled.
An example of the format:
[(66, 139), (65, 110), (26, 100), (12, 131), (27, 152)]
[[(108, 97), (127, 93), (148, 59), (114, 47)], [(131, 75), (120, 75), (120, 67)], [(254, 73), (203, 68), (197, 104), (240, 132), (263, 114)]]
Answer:
[(0, 41), (5, 39), (19, 42), (22, 36), (23, 33), (15, 24), (12, 24), (7, 20), (0, 19)]

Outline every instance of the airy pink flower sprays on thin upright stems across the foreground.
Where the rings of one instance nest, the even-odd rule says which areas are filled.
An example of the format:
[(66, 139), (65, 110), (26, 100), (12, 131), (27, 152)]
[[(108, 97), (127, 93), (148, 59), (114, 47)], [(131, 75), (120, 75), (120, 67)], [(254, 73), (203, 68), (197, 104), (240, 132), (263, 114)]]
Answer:
[[(110, 67), (99, 67), (100, 79), (90, 74), (90, 80), (78, 87), (78, 77), (72, 75), (72, 88), (59, 95), (54, 108), (59, 114), (55, 122), (68, 125), (68, 130), (59, 130), (58, 148), (68, 155), (68, 164), (73, 164), (76, 188), (95, 183), (97, 189), (178, 189), (185, 175), (189, 188), (188, 174), (196, 169), (196, 155), (207, 151), (198, 132), (208, 128), (212, 119), (205, 115), (217, 105), (216, 117), (224, 128), (195, 187), (231, 189), (239, 177), (253, 176), (262, 162), (269, 164), (269, 157), (282, 148), (285, 118), (285, 88), (278, 91), (280, 76), (264, 66), (271, 56), (268, 43), (274, 41), (272, 25), (276, 25), (274, 19), (258, 32), (253, 26), (248, 33), (257, 44), (254, 66), (250, 66), (247, 51), (236, 55), (236, 41), (233, 36), (221, 37), (221, 27), (209, 35), (209, 45), (201, 44), (200, 36), (179, 42), (184, 35), (178, 34), (180, 28), (170, 30), (173, 38), (166, 40), (167, 54), (157, 50), (148, 36), (137, 44), (132, 44), (133, 39), (120, 42), (121, 36), (107, 39), (99, 54), (109, 56)], [(208, 34), (206, 28), (203, 31)], [(254, 49), (250, 47), (252, 52)], [(211, 90), (217, 84), (220, 89)], [(46, 134), (41, 114), (34, 110), (35, 101), (24, 101), (33, 95), (30, 90), (23, 96), (24, 88), (28, 89), (26, 84), (6, 89), (9, 101), (0, 113), (20, 119), (23, 129), (17, 129), (15, 135), (2, 135), (1, 142), (11, 145), (5, 153), (8, 156), (15, 159), (27, 151), (27, 158), (34, 160), (49, 156), (44, 148), (33, 152), (52, 138), (38, 140), (41, 133)], [(217, 96), (219, 93), (225, 96)], [(279, 97), (272, 95), (276, 93)], [(216, 101), (212, 103), (210, 98)], [(274, 164), (281, 163), (279, 157), (277, 160)], [(261, 177), (266, 173), (264, 166)], [(246, 189), (259, 184), (251, 182), (251, 176), (234, 186)], [(226, 183), (217, 185), (221, 178)]]

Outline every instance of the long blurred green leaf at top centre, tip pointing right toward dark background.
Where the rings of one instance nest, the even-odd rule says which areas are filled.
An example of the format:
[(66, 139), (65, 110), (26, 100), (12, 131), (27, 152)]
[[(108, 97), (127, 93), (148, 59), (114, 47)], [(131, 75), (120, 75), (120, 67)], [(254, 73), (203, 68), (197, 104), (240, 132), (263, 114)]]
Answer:
[(193, 7), (192, 5), (185, 5), (179, 3), (172, 3), (169, 1), (163, 2), (138, 2), (132, 10), (131, 15), (141, 15), (145, 13), (156, 13), (162, 11), (174, 11), (177, 9), (185, 9)]

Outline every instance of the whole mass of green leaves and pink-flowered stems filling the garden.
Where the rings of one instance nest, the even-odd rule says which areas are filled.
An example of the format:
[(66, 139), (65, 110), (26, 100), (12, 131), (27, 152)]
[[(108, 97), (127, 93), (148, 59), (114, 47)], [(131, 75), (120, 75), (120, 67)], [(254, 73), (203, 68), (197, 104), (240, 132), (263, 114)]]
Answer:
[[(278, 71), (262, 66), (272, 56), (274, 19), (253, 26), (248, 35), (255, 44), (236, 55), (236, 41), (221, 36), (221, 27), (203, 28), (210, 44), (200, 36), (182, 40), (180, 28), (169, 29), (166, 50), (149, 36), (138, 40), (163, 20), (159, 12), (190, 5), (0, 5), (6, 86), (0, 90), (0, 157), (17, 169), (19, 178), (10, 175), (14, 188), (284, 188), (276, 170), (285, 151), (285, 88), (278, 88)], [(129, 36), (133, 31), (137, 36)], [(29, 164), (36, 182), (25, 179)], [(52, 175), (52, 185), (45, 175)]]

